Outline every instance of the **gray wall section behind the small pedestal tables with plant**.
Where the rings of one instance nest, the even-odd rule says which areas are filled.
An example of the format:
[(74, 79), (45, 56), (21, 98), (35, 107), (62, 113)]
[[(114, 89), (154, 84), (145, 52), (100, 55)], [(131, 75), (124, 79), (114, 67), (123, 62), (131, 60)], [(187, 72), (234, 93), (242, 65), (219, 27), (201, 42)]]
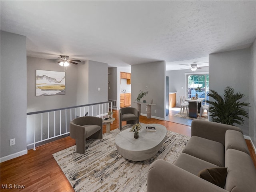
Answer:
[[(166, 70), (165, 61), (132, 65), (132, 107), (136, 108), (135, 100), (140, 90), (147, 91), (148, 94), (142, 100), (150, 102), (154, 100), (152, 106), (152, 116), (159, 119), (165, 118), (165, 85)], [(156, 109), (156, 113), (154, 110)], [(147, 114), (146, 106), (141, 104), (141, 113)]]

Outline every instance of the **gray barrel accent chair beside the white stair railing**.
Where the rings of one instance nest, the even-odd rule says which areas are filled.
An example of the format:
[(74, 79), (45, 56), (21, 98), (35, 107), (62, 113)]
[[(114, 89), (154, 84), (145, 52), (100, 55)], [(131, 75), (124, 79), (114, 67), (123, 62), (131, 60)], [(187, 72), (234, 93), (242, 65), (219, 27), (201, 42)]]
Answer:
[(76, 152), (85, 153), (85, 141), (102, 139), (102, 118), (86, 116), (70, 122), (70, 137), (76, 139)]

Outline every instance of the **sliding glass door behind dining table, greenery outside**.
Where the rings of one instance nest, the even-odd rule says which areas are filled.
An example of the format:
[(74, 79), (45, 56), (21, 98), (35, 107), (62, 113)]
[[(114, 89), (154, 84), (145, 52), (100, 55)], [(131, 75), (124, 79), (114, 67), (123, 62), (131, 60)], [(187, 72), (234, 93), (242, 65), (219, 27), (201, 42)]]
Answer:
[[(186, 98), (195, 97), (198, 94), (198, 98), (209, 99), (209, 74), (208, 72), (204, 73), (193, 73), (185, 74), (186, 75)], [(197, 87), (200, 87), (200, 90), (196, 90)]]

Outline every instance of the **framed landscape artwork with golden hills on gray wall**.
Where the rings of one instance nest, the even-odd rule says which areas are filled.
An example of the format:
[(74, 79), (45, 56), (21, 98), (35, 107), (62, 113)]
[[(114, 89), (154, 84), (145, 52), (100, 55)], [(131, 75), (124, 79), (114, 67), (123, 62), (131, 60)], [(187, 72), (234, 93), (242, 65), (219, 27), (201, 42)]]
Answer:
[(64, 94), (65, 72), (36, 70), (36, 96)]

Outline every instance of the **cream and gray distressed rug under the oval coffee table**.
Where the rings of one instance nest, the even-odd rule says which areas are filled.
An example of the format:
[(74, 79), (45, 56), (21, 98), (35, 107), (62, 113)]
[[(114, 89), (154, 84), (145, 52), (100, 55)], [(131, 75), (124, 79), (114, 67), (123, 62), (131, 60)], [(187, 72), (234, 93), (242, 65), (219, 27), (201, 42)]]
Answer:
[[(131, 127), (132, 124), (128, 124), (122, 129)], [(157, 159), (173, 163), (189, 139), (167, 131), (166, 140), (155, 156), (134, 162), (118, 153), (114, 139), (119, 132), (116, 129), (103, 134), (102, 140), (86, 141), (85, 154), (76, 153), (76, 146), (53, 154), (76, 192), (146, 192), (150, 164)]]

